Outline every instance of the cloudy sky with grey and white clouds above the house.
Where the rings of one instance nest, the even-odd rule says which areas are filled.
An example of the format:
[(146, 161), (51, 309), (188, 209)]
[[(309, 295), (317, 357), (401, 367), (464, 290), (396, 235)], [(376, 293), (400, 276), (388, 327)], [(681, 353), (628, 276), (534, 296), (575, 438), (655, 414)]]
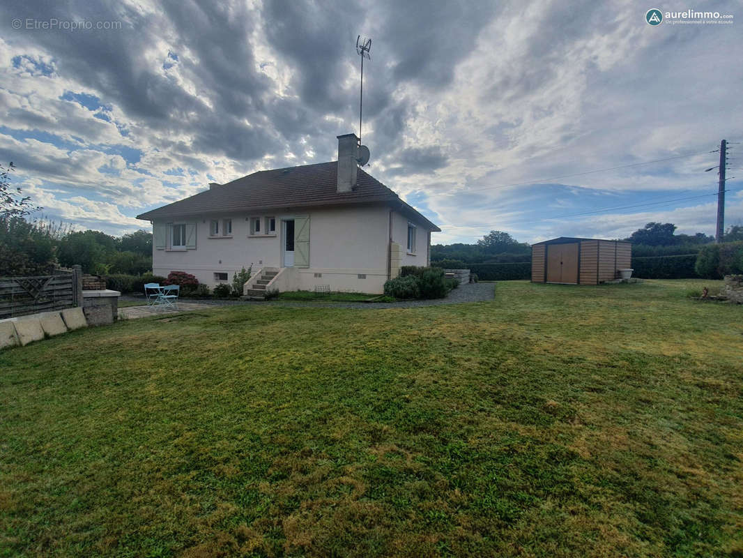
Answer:
[[(4, 1), (0, 161), (52, 219), (148, 227), (134, 216), (209, 182), (334, 160), (358, 133), (362, 33), (366, 170), (434, 243), (713, 234), (704, 169), (743, 141), (743, 3), (692, 6), (732, 25), (646, 24), (682, 4)], [(743, 224), (743, 180), (727, 187)]]

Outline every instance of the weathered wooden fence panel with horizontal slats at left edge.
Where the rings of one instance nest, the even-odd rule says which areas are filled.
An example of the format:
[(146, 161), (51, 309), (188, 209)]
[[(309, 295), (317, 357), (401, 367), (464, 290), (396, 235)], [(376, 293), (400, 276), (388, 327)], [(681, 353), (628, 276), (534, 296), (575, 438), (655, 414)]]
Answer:
[(77, 270), (53, 275), (0, 278), (0, 319), (79, 306)]

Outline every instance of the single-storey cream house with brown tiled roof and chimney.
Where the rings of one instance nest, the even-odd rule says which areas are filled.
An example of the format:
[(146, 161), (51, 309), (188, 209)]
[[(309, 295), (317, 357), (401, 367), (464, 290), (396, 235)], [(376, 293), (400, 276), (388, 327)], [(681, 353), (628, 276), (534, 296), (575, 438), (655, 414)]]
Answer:
[[(152, 223), (152, 272), (227, 283), (253, 266), (265, 289), (383, 292), (400, 266), (429, 264), (441, 231), (358, 167), (359, 140), (338, 136), (338, 161), (262, 170), (137, 216)], [(256, 273), (261, 271), (261, 273)]]

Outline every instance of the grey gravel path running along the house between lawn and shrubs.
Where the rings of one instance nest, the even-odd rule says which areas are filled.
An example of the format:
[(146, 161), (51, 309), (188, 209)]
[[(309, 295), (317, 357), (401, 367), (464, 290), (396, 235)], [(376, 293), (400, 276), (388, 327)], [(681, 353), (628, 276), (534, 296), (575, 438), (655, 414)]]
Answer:
[[(460, 285), (449, 293), (447, 298), (435, 298), (429, 301), (405, 302), (322, 302), (322, 301), (219, 301), (209, 298), (180, 298), (181, 302), (209, 304), (210, 306), (233, 306), (236, 304), (270, 304), (283, 307), (329, 307), (329, 308), (363, 308), (365, 310), (380, 310), (383, 308), (415, 308), (419, 306), (438, 306), (439, 304), (462, 304), (464, 302), (492, 301), (495, 297), (494, 283), (467, 283)], [(141, 301), (142, 297), (123, 295), (121, 301)]]

